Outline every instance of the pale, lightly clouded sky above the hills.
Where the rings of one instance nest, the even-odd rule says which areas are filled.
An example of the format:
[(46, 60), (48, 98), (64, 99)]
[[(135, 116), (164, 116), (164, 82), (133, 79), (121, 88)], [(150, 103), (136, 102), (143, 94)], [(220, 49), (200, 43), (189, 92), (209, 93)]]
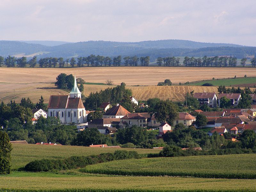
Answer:
[(0, 40), (256, 46), (255, 0), (0, 0)]

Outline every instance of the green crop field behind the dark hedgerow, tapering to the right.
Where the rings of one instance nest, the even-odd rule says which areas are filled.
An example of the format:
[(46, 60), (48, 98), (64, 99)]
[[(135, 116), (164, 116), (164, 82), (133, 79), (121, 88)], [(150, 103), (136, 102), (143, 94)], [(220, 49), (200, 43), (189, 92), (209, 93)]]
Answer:
[(64, 159), (70, 156), (89, 156), (112, 153), (117, 149), (137, 151), (138, 153), (159, 153), (160, 149), (133, 148), (91, 148), (79, 146), (50, 146), (35, 144), (12, 144), (12, 170), (17, 170), (31, 161), (40, 159)]

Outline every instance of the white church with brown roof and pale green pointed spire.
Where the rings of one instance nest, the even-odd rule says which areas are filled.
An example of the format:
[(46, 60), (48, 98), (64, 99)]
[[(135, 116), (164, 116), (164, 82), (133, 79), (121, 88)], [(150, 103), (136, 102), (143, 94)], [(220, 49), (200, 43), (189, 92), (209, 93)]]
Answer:
[(68, 95), (51, 95), (48, 104), (48, 115), (57, 117), (62, 124), (86, 123), (86, 113), (81, 100), (81, 92), (76, 85)]

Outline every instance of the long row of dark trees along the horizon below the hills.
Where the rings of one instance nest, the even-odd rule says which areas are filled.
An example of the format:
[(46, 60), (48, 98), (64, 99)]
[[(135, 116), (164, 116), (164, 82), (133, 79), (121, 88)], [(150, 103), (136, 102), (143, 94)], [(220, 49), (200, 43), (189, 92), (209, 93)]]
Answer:
[[(247, 59), (243, 58), (240, 64), (245, 67)], [(119, 66), (149, 66), (150, 57), (138, 57), (138, 56), (126, 56), (124, 58), (121, 55), (117, 57), (104, 57), (101, 55), (89, 55), (87, 57), (72, 57), (70, 60), (64, 60), (62, 57), (46, 57), (37, 60), (37, 57), (34, 56), (32, 59), (27, 60), (27, 57), (16, 58), (13, 56), (8, 56), (6, 58), (0, 56), (0, 67), (5, 65), (6, 67), (19, 67), (25, 68), (27, 65), (29, 67), (34, 68), (36, 64), (39, 64), (40, 68), (64, 68), (68, 67), (119, 67)], [(156, 59), (157, 66), (165, 66), (165, 67), (178, 67), (180, 66), (180, 58), (179, 57), (158, 57)], [(252, 67), (256, 67), (256, 58), (251, 59)], [(215, 57), (207, 57), (203, 58), (195, 58), (195, 57), (185, 57), (183, 60), (183, 66), (186, 67), (236, 67), (237, 66), (237, 58), (236, 57), (227, 57), (227, 56), (215, 56)]]

